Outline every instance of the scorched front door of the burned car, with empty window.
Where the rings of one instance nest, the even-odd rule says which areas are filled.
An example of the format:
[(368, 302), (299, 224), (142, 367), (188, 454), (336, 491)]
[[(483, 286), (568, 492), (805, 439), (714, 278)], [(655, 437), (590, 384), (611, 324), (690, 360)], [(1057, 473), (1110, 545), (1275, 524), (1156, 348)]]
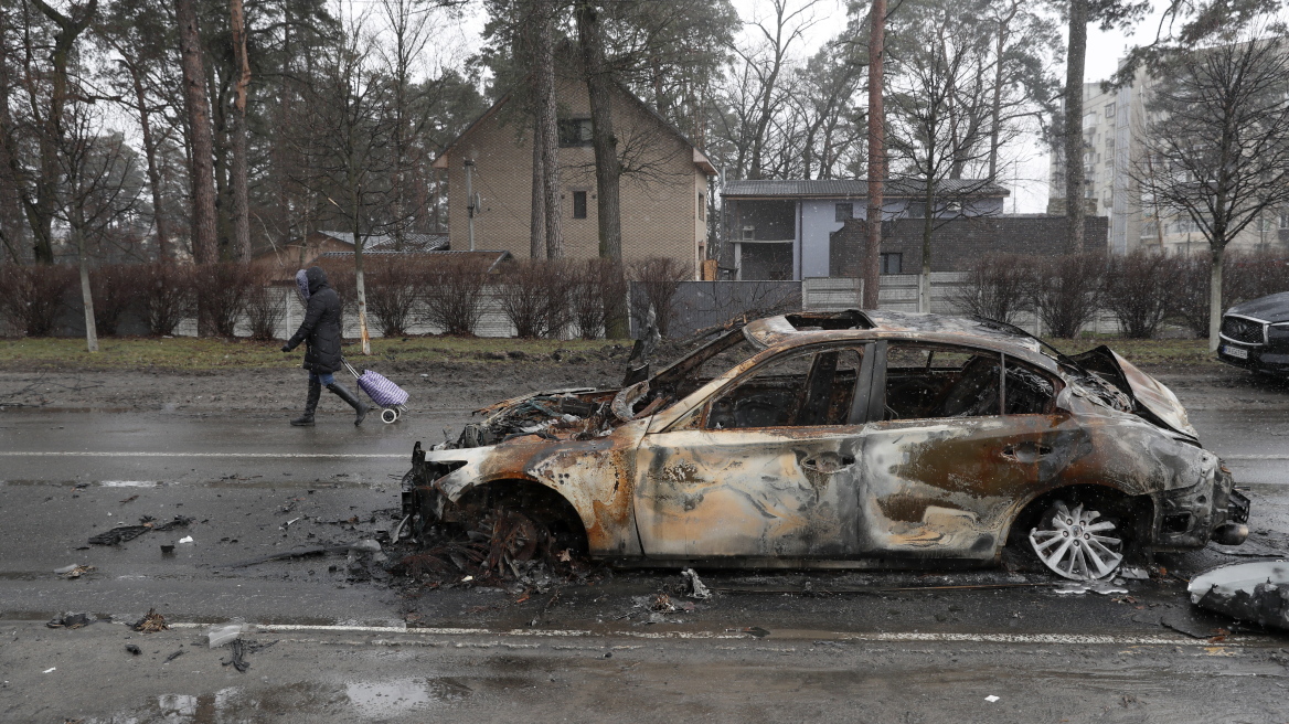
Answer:
[(646, 557), (855, 555), (856, 411), (871, 371), (870, 345), (798, 348), (646, 434), (634, 493)]

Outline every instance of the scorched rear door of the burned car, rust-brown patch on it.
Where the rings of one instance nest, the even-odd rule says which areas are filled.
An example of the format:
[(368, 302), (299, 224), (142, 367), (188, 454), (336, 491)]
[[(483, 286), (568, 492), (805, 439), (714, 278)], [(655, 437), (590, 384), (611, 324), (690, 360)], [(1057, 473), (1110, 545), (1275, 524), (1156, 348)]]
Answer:
[(880, 558), (993, 558), (1020, 500), (1088, 450), (1056, 410), (1060, 381), (999, 352), (880, 341), (867, 425), (860, 546)]

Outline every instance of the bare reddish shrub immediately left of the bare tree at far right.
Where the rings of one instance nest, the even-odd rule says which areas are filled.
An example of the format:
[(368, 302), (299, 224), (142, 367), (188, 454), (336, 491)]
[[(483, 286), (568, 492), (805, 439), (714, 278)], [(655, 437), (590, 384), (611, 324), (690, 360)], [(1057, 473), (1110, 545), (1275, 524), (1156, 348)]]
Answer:
[(1150, 339), (1173, 310), (1182, 260), (1161, 251), (1137, 250), (1106, 265), (1101, 298), (1123, 336)]

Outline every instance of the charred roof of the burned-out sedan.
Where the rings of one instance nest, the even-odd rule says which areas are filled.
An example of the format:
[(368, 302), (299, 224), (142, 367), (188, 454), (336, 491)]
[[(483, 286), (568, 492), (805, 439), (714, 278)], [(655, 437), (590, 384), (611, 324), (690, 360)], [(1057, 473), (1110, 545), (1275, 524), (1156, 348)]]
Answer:
[(1012, 325), (982, 317), (950, 317), (919, 312), (844, 309), (798, 312), (749, 322), (744, 335), (757, 347), (795, 347), (834, 339), (920, 339), (942, 344), (969, 344), (1021, 357), (1056, 370), (1056, 361), (1040, 353), (1039, 340)]

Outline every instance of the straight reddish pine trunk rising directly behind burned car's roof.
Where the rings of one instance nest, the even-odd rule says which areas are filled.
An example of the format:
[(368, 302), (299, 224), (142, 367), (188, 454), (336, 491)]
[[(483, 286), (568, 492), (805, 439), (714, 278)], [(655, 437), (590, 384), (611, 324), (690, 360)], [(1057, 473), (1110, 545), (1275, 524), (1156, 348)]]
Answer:
[(867, 243), (860, 280), (864, 309), (878, 308), (882, 251), (882, 205), (886, 183), (886, 112), (882, 108), (882, 55), (886, 40), (886, 0), (873, 0), (869, 12), (869, 209), (865, 219)]

